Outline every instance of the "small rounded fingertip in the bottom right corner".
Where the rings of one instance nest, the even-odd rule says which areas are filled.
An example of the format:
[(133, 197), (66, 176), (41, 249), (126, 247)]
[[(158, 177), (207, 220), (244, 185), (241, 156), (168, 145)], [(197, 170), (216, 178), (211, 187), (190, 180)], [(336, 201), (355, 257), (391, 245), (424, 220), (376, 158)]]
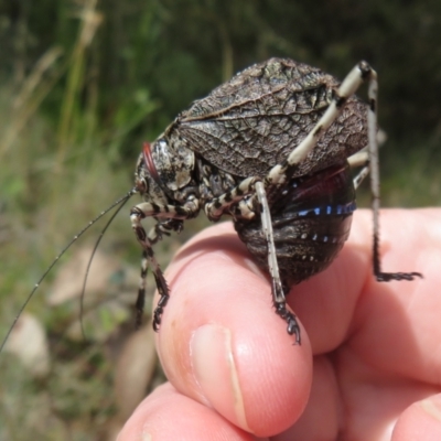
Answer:
[(441, 396), (410, 406), (398, 419), (391, 441), (441, 440)]

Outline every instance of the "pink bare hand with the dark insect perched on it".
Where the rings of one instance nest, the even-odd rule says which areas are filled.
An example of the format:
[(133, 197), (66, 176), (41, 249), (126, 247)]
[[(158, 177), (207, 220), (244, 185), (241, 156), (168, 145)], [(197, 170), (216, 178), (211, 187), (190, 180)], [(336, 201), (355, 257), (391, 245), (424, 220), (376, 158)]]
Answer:
[(169, 383), (118, 441), (441, 440), (441, 209), (381, 211), (380, 228), (383, 270), (423, 279), (374, 279), (372, 213), (357, 211), (331, 267), (288, 297), (300, 346), (232, 224), (194, 237), (166, 271)]

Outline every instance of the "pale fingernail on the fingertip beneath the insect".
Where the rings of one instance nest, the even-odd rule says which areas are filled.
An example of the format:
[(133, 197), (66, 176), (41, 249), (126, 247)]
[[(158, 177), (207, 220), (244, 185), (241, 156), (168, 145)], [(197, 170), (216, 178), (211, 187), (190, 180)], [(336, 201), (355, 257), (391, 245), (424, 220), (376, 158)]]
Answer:
[(191, 342), (193, 372), (204, 397), (225, 418), (249, 431), (230, 330), (206, 324)]

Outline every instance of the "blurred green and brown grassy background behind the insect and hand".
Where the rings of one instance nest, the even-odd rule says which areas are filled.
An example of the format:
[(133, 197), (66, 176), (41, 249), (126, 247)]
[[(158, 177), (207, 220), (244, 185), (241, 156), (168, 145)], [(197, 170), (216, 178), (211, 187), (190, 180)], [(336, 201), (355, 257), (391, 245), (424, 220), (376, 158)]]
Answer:
[[(271, 56), (338, 78), (368, 61), (387, 133), (383, 206), (440, 205), (440, 29), (439, 0), (0, 0), (0, 338), (56, 254), (130, 190), (142, 141)], [(149, 311), (132, 333), (140, 249), (128, 214), (138, 201), (94, 259), (87, 340), (79, 295), (106, 220), (74, 244), (15, 326), (0, 354), (0, 440), (112, 440), (162, 381)], [(368, 203), (364, 189), (358, 204)], [(163, 268), (202, 217), (157, 247)]]

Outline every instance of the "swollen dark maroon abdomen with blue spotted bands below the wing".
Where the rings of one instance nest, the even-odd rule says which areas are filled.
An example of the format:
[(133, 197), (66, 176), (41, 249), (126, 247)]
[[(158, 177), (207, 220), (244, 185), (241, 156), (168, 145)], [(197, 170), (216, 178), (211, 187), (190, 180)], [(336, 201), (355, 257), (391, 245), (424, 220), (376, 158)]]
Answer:
[[(271, 195), (270, 211), (283, 283), (301, 282), (323, 271), (351, 230), (355, 192), (347, 164), (291, 180)], [(268, 250), (260, 216), (235, 222), (240, 239), (262, 268)]]

